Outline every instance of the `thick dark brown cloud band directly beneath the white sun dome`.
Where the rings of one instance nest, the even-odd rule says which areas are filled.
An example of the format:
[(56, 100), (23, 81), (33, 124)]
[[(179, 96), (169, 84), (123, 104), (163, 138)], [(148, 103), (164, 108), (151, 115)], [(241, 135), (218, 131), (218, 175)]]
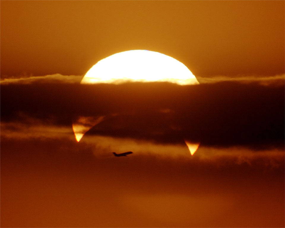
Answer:
[(1, 121), (25, 121), (19, 113), (70, 126), (77, 116), (106, 116), (89, 135), (284, 147), (284, 85), (1, 85)]

